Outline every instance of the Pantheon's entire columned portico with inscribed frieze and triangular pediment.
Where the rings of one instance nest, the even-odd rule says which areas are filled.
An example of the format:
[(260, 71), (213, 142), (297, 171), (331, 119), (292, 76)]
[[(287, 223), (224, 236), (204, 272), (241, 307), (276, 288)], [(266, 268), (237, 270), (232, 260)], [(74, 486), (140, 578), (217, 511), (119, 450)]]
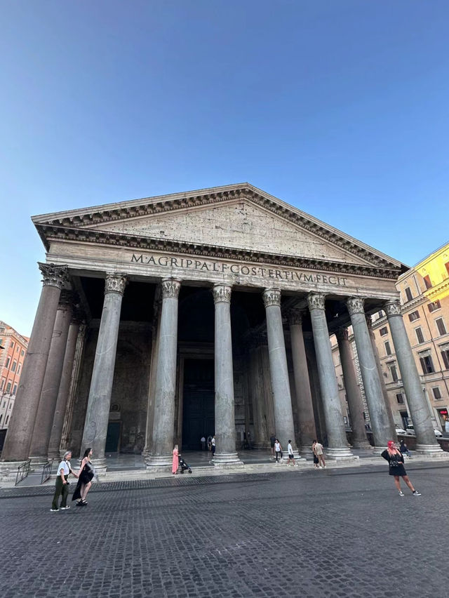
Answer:
[[(328, 458), (368, 446), (352, 326), (374, 451), (395, 438), (370, 314), (391, 329), (417, 451), (441, 456), (395, 282), (406, 267), (262, 190), (229, 185), (32, 218), (43, 287), (0, 461), (92, 447), (142, 453), (165, 470), (173, 445), (215, 434), (217, 467), (276, 434)], [(337, 335), (349, 446), (330, 335)]]

